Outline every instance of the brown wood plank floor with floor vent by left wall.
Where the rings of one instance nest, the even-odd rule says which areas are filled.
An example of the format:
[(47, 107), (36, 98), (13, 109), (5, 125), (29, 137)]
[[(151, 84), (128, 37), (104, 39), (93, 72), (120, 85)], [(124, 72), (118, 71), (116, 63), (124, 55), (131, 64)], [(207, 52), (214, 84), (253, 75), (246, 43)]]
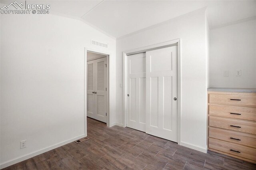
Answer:
[(89, 140), (71, 142), (4, 169), (256, 169), (256, 164), (216, 152), (198, 152), (132, 128), (107, 128), (90, 118), (87, 125)]

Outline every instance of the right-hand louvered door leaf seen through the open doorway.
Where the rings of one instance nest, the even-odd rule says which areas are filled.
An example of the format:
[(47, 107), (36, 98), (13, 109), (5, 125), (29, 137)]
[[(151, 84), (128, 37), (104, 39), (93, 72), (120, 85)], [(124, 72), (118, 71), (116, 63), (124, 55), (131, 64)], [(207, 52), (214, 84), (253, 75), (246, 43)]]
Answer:
[(95, 61), (95, 112), (99, 121), (107, 123), (107, 57)]

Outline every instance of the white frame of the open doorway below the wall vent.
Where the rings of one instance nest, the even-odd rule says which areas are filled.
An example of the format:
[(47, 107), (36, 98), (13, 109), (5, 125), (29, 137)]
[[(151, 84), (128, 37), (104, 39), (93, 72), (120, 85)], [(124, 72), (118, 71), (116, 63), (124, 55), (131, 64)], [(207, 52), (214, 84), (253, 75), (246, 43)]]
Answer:
[(107, 51), (100, 51), (98, 49), (94, 49), (94, 48), (88, 48), (85, 47), (84, 48), (84, 133), (85, 136), (87, 136), (87, 52), (92, 52), (92, 53), (100, 53), (102, 55), (106, 55), (107, 56), (107, 127), (111, 126), (110, 123), (110, 117), (111, 117), (111, 113), (110, 113), (110, 62), (109, 62), (109, 58), (112, 55), (111, 53), (107, 52)]

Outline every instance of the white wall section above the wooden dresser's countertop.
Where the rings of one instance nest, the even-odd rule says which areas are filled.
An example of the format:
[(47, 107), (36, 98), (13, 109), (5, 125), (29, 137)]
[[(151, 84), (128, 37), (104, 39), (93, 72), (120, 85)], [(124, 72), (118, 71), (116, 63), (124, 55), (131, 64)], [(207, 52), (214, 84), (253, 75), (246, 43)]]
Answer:
[(210, 87), (256, 88), (256, 20), (210, 31)]

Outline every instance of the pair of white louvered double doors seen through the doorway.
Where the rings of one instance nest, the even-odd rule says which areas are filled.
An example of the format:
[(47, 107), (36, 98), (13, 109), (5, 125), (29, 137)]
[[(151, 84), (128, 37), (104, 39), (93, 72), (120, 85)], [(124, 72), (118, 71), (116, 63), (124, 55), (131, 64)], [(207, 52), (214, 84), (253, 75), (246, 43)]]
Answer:
[(87, 116), (107, 122), (107, 58), (87, 62)]

